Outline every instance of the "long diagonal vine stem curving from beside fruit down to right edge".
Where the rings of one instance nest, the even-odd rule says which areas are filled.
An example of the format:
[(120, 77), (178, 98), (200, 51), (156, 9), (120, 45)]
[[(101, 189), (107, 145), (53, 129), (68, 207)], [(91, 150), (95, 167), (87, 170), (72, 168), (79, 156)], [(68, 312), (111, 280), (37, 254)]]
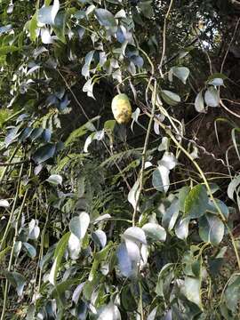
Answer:
[[(151, 114), (149, 114), (148, 112), (145, 112), (145, 113), (151, 118), (151, 116), (152, 116)], [(176, 145), (178, 148), (180, 148), (180, 150), (188, 157), (188, 159), (192, 162), (192, 164), (195, 165), (196, 170), (199, 172), (202, 180), (204, 181), (204, 185), (205, 185), (205, 187), (206, 187), (206, 189), (207, 189), (207, 191), (208, 191), (208, 193), (209, 193), (209, 195), (210, 195), (210, 198), (212, 199), (212, 203), (214, 204), (215, 208), (216, 208), (217, 211), (219, 212), (220, 218), (221, 218), (221, 220), (223, 221), (225, 227), (228, 229), (228, 234), (229, 234), (229, 236), (230, 236), (231, 243), (232, 243), (233, 248), (234, 248), (234, 251), (235, 251), (237, 265), (238, 265), (238, 268), (239, 268), (239, 270), (240, 270), (240, 257), (239, 257), (239, 253), (238, 253), (238, 251), (237, 251), (235, 238), (234, 238), (234, 236), (233, 236), (233, 234), (232, 234), (231, 229), (230, 229), (229, 226), (228, 226), (228, 222), (227, 222), (224, 214), (223, 214), (223, 213), (221, 212), (221, 210), (220, 210), (219, 204), (217, 204), (214, 196), (212, 195), (212, 190), (211, 190), (211, 188), (210, 188), (210, 186), (209, 186), (209, 183), (208, 183), (208, 181), (207, 181), (207, 179), (206, 179), (206, 177), (205, 177), (205, 175), (204, 175), (203, 170), (200, 168), (199, 164), (196, 163), (195, 159), (188, 153), (188, 151), (181, 146), (180, 142), (179, 142), (178, 140), (176, 140), (176, 138), (175, 138), (174, 135), (172, 134), (171, 130), (170, 130), (165, 124), (161, 123), (157, 118), (156, 118), (155, 120), (156, 120), (156, 122), (161, 126), (161, 128), (164, 129), (164, 132), (166, 132), (166, 134), (172, 139), (172, 141), (175, 143), (175, 145)]]

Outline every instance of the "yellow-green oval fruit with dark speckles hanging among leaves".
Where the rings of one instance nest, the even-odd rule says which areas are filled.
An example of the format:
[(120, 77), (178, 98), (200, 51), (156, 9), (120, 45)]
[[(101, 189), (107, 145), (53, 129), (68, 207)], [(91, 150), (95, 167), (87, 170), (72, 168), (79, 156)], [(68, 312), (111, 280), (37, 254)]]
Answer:
[(112, 100), (113, 115), (118, 124), (127, 124), (132, 116), (132, 107), (126, 94), (117, 94)]

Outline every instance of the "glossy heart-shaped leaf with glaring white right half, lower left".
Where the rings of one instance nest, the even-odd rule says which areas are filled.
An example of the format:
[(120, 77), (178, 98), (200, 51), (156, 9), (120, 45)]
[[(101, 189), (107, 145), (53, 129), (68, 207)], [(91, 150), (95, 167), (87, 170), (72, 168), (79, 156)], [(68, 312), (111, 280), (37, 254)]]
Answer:
[(79, 240), (84, 239), (85, 233), (89, 226), (90, 217), (86, 212), (80, 213), (78, 216), (72, 218), (69, 222), (69, 229)]

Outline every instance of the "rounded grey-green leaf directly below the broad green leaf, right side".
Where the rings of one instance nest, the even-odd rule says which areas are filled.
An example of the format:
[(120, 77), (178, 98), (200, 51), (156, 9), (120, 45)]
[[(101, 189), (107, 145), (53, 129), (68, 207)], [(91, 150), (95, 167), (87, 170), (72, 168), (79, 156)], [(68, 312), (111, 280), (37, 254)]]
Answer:
[(199, 236), (205, 243), (220, 244), (224, 236), (224, 224), (214, 214), (206, 213), (199, 219)]

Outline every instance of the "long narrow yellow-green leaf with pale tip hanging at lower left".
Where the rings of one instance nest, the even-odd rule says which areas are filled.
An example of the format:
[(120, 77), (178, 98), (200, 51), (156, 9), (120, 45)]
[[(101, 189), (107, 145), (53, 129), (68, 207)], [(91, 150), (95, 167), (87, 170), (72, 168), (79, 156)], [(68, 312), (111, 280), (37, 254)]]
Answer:
[(53, 257), (54, 262), (48, 278), (49, 282), (53, 285), (56, 284), (56, 278), (58, 275), (58, 271), (60, 269), (60, 263), (61, 263), (63, 254), (67, 248), (69, 236), (70, 236), (70, 232), (62, 236), (54, 252), (54, 257)]

